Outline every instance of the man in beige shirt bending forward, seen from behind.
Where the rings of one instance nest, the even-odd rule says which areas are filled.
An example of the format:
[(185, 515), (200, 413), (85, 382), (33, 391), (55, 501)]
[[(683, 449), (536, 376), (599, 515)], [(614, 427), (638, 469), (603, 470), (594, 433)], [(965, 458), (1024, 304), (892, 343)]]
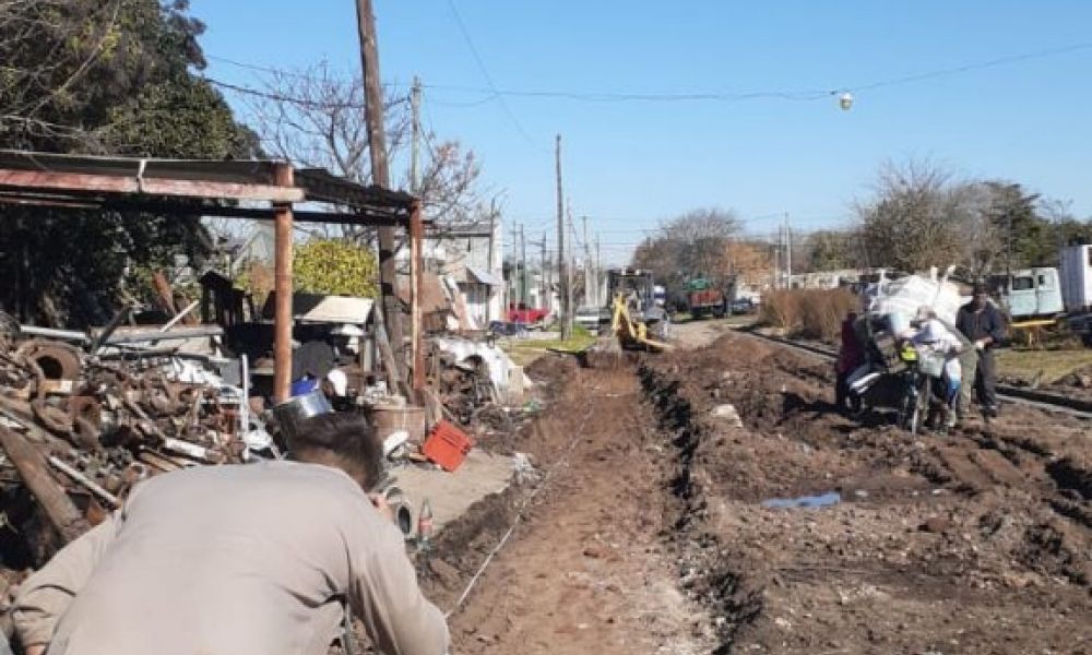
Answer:
[(288, 445), (293, 462), (138, 485), (22, 585), (13, 618), (26, 652), (319, 655), (347, 604), (379, 652), (444, 653), (443, 616), (385, 504), (366, 493), (382, 472), (371, 428), (322, 415)]

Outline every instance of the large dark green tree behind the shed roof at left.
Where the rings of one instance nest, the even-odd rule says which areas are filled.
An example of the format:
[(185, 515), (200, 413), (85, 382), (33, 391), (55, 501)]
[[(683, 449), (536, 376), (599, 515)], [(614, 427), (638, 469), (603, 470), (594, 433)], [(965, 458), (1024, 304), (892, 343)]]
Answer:
[[(0, 147), (250, 157), (253, 134), (192, 71), (204, 29), (182, 0), (0, 4)], [(199, 263), (198, 216), (0, 209), (0, 307), (21, 320), (99, 323), (127, 266)]]

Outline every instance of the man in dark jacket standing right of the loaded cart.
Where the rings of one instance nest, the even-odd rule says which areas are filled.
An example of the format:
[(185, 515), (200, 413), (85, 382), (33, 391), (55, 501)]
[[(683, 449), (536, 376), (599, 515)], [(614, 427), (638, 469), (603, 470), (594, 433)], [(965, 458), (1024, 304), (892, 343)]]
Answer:
[(978, 390), (983, 413), (997, 416), (997, 365), (994, 348), (1005, 338), (1005, 319), (989, 301), (989, 291), (985, 285), (974, 285), (974, 299), (960, 308), (956, 315), (956, 326), (971, 340), (978, 352), (976, 370), (963, 373), (965, 383), (960, 397), (960, 409), (966, 412), (971, 406), (971, 389), (974, 388)]

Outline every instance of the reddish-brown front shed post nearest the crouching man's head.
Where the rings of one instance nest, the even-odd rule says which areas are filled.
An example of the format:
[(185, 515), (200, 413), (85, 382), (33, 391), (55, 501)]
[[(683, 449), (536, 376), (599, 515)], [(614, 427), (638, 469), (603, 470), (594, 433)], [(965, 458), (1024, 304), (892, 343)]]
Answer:
[[(278, 186), (292, 187), (292, 165), (277, 164), (273, 169), (273, 178)], [(292, 393), (292, 204), (275, 203), (273, 221), (276, 291), (273, 315), (273, 402), (283, 403)]]

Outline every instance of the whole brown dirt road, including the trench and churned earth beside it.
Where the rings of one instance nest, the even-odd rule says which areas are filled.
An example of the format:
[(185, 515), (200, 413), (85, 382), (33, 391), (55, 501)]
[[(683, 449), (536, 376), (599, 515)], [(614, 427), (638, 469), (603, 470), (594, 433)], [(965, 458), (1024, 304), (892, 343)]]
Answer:
[[(537, 477), (442, 535), (459, 653), (1085, 653), (1089, 426), (950, 437), (829, 405), (829, 366), (714, 323), (691, 347), (539, 361)], [(701, 344), (715, 340), (711, 345)], [(817, 508), (778, 508), (799, 497)], [(522, 521), (517, 521), (522, 516)]]

